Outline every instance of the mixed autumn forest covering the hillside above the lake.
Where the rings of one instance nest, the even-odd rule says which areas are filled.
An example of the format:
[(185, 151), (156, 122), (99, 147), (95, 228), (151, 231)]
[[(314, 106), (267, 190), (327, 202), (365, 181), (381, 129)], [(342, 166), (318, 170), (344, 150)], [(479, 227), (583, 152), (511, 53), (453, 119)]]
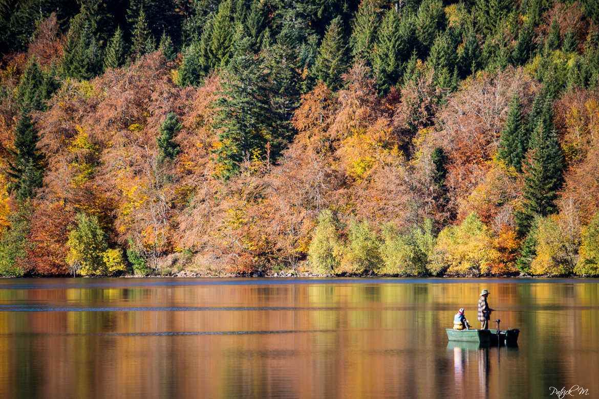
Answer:
[(0, 0), (0, 275), (599, 275), (599, 1)]

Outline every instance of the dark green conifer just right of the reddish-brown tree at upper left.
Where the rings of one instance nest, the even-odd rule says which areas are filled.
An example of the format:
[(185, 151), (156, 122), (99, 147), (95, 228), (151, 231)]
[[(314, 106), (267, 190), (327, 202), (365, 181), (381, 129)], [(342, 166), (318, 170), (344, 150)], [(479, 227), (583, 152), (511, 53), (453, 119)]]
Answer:
[(83, 14), (71, 20), (62, 58), (62, 74), (77, 79), (96, 77), (102, 69), (101, 53), (90, 22)]

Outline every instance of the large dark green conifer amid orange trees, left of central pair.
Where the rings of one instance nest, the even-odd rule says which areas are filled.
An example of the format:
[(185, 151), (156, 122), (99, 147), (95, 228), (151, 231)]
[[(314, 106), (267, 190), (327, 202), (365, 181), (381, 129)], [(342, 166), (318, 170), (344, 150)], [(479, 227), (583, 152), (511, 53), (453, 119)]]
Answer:
[[(239, 36), (238, 36), (239, 37)], [(235, 39), (234, 56), (223, 73), (214, 128), (220, 147), (214, 153), (219, 178), (228, 179), (241, 163), (266, 153), (273, 115), (265, 92), (267, 81), (252, 50), (252, 39)]]

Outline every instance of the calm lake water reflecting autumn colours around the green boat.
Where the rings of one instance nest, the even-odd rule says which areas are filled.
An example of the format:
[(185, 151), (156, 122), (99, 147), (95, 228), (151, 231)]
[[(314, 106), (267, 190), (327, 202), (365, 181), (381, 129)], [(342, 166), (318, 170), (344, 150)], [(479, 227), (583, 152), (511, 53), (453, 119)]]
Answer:
[[(0, 397), (599, 398), (597, 282), (2, 279)], [(518, 348), (448, 344), (482, 288)]]

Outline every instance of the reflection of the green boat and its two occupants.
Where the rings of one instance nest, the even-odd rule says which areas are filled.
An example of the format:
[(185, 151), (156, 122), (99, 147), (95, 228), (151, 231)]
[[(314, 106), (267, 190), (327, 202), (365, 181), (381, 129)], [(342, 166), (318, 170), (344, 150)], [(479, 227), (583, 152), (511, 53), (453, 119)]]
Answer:
[[(465, 386), (473, 386), (468, 383), (470, 379), (478, 377), (478, 397), (489, 397), (489, 369), (495, 374), (500, 373), (501, 357), (506, 357), (508, 352), (518, 351), (518, 345), (489, 346), (478, 342), (450, 341), (447, 344), (447, 353), (453, 353), (453, 371), (456, 397), (462, 397), (471, 392), (464, 392)], [(497, 365), (491, 366), (492, 355), (497, 354)], [(476, 362), (476, 366), (472, 366)], [(476, 371), (475, 371), (476, 370)]]

